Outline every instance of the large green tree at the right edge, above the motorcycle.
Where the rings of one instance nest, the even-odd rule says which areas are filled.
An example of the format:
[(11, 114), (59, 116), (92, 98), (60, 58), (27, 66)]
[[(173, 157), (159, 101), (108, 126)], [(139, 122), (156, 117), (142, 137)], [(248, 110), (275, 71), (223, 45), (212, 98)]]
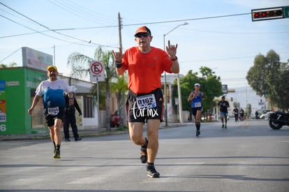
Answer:
[(281, 63), (279, 54), (269, 50), (267, 55), (258, 54), (249, 69), (246, 80), (259, 96), (283, 110), (289, 108), (289, 66)]

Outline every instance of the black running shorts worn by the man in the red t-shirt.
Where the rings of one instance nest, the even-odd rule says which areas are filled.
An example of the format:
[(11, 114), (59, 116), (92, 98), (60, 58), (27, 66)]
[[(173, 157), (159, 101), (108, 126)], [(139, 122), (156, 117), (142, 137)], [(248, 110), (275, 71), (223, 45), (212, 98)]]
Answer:
[[(156, 99), (156, 106), (154, 108), (139, 109), (137, 104), (138, 96), (146, 96), (154, 94)], [(128, 113), (128, 122), (142, 122), (145, 123), (147, 119), (160, 119), (163, 121), (163, 92), (161, 89), (155, 89), (149, 94), (135, 94), (133, 91), (128, 91), (128, 98), (126, 100), (126, 112)]]

